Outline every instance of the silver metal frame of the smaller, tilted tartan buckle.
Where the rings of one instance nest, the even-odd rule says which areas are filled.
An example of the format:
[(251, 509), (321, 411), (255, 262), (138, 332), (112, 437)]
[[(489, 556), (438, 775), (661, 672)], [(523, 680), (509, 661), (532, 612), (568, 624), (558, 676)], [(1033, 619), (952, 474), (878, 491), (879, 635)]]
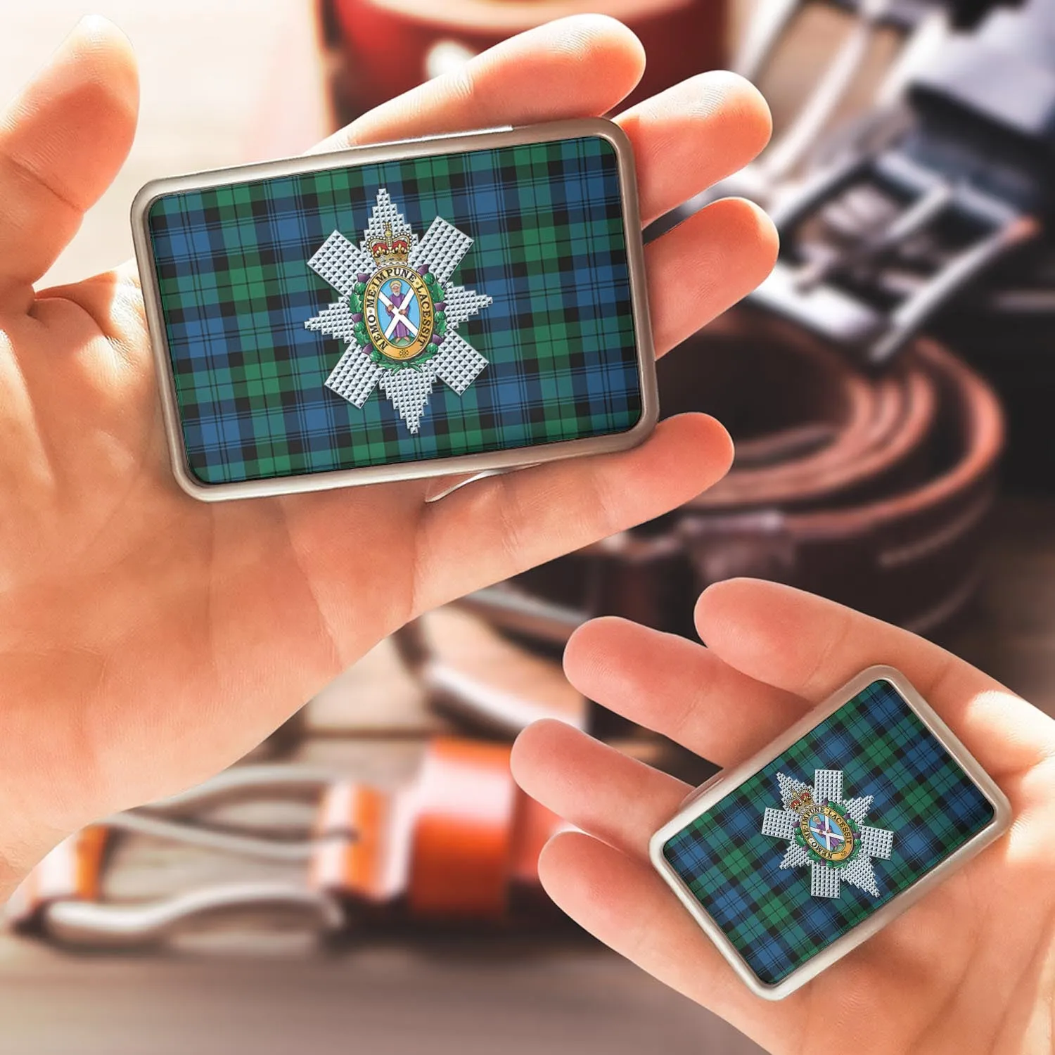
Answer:
[[(697, 817), (706, 813), (721, 799), (740, 787), (748, 778), (783, 754), (792, 744), (801, 740), (811, 729), (837, 711), (843, 704), (850, 701), (862, 689), (874, 682), (885, 680), (904, 697), (920, 721), (941, 742), (942, 746), (956, 760), (963, 771), (974, 781), (976, 787), (985, 795), (993, 806), (993, 821), (973, 839), (964, 843), (958, 850), (945, 858), (939, 865), (917, 880), (906, 890), (891, 898), (882, 908), (858, 924), (848, 934), (833, 941), (827, 948), (818, 953), (808, 963), (798, 967), (787, 978), (775, 985), (763, 982), (747, 965), (732, 942), (722, 933), (717, 923), (704, 910), (699, 902), (692, 896), (689, 887), (668, 863), (663, 855), (664, 844), (672, 836), (680, 831)], [(760, 818), (761, 819), (761, 818)], [(870, 938), (882, 929), (906, 908), (915, 904), (931, 887), (937, 885), (950, 872), (956, 870), (966, 861), (979, 853), (992, 842), (998, 839), (1011, 825), (1011, 804), (996, 782), (982, 769), (959, 738), (938, 717), (934, 708), (916, 691), (908, 679), (893, 667), (869, 667), (862, 671), (838, 692), (832, 693), (823, 704), (816, 707), (801, 721), (797, 722), (782, 736), (768, 744), (756, 754), (741, 765), (726, 771), (715, 773), (709, 781), (696, 788), (679, 807), (677, 813), (668, 821), (651, 839), (649, 857), (660, 876), (667, 881), (696, 922), (704, 928), (707, 936), (717, 946), (718, 952), (729, 961), (733, 970), (757, 996), (766, 1000), (781, 1000), (793, 993), (801, 985), (819, 975), (825, 967), (844, 957), (851, 948)]]

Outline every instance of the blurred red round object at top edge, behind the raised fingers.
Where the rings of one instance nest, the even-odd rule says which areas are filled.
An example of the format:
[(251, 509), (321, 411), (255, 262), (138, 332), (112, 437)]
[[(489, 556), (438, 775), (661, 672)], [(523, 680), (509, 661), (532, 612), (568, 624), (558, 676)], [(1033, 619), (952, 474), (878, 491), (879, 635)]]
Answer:
[(630, 102), (724, 64), (725, 0), (324, 0), (338, 109), (363, 113), (517, 33), (596, 12), (629, 25), (651, 57)]

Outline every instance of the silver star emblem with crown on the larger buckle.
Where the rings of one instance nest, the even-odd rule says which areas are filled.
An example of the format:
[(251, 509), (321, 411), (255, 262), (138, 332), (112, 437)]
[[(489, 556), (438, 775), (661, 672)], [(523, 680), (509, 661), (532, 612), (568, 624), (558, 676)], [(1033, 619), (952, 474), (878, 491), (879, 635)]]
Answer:
[(419, 241), (384, 189), (358, 246), (334, 231), (308, 267), (341, 299), (304, 324), (346, 345), (326, 387), (361, 407), (380, 386), (410, 433), (437, 379), (461, 396), (487, 365), (458, 327), (492, 299), (449, 281), (472, 245), (440, 216)]

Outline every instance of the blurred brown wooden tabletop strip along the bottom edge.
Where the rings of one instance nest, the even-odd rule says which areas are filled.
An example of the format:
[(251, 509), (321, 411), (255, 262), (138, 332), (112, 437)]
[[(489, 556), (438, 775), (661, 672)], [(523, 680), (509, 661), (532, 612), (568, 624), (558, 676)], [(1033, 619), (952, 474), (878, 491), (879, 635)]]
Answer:
[(0, 961), (2, 1055), (748, 1055), (595, 951), (398, 946), (335, 962)]

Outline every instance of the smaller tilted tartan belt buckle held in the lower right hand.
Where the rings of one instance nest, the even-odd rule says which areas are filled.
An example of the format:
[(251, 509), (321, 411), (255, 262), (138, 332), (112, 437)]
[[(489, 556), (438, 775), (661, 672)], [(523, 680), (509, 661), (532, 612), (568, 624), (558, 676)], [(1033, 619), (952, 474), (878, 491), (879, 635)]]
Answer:
[(871, 667), (691, 794), (652, 863), (736, 974), (779, 1000), (990, 845), (1003, 792), (890, 667)]

